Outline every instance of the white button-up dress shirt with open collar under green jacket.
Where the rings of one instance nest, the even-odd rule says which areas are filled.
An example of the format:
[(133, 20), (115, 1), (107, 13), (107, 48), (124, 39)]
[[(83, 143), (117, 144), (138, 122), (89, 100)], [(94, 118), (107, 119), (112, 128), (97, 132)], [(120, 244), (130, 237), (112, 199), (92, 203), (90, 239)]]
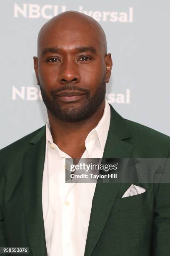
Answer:
[[(82, 158), (102, 158), (110, 125), (110, 106), (85, 140)], [(46, 123), (46, 151), (42, 180), (42, 210), (48, 256), (83, 256), (96, 183), (65, 183), (65, 158), (53, 143)]]

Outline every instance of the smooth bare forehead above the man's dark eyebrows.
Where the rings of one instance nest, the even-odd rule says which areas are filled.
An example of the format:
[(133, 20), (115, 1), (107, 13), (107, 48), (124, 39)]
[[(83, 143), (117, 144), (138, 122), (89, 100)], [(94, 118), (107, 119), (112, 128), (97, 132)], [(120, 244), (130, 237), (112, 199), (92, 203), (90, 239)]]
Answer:
[(100, 33), (89, 24), (55, 24), (42, 30), (38, 41), (39, 51), (53, 46), (71, 50), (88, 45), (96, 51), (101, 48)]

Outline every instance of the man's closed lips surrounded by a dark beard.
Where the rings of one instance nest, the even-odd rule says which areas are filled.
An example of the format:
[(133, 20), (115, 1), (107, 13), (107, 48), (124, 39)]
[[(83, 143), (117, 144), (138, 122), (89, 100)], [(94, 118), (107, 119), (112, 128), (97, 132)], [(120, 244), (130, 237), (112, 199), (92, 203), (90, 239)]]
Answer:
[(80, 100), (82, 99), (82, 97), (85, 96), (85, 93), (83, 92), (70, 92), (70, 91), (65, 91), (65, 92), (59, 92), (56, 94), (59, 99), (61, 101), (64, 101), (64, 102), (75, 102), (77, 100)]

